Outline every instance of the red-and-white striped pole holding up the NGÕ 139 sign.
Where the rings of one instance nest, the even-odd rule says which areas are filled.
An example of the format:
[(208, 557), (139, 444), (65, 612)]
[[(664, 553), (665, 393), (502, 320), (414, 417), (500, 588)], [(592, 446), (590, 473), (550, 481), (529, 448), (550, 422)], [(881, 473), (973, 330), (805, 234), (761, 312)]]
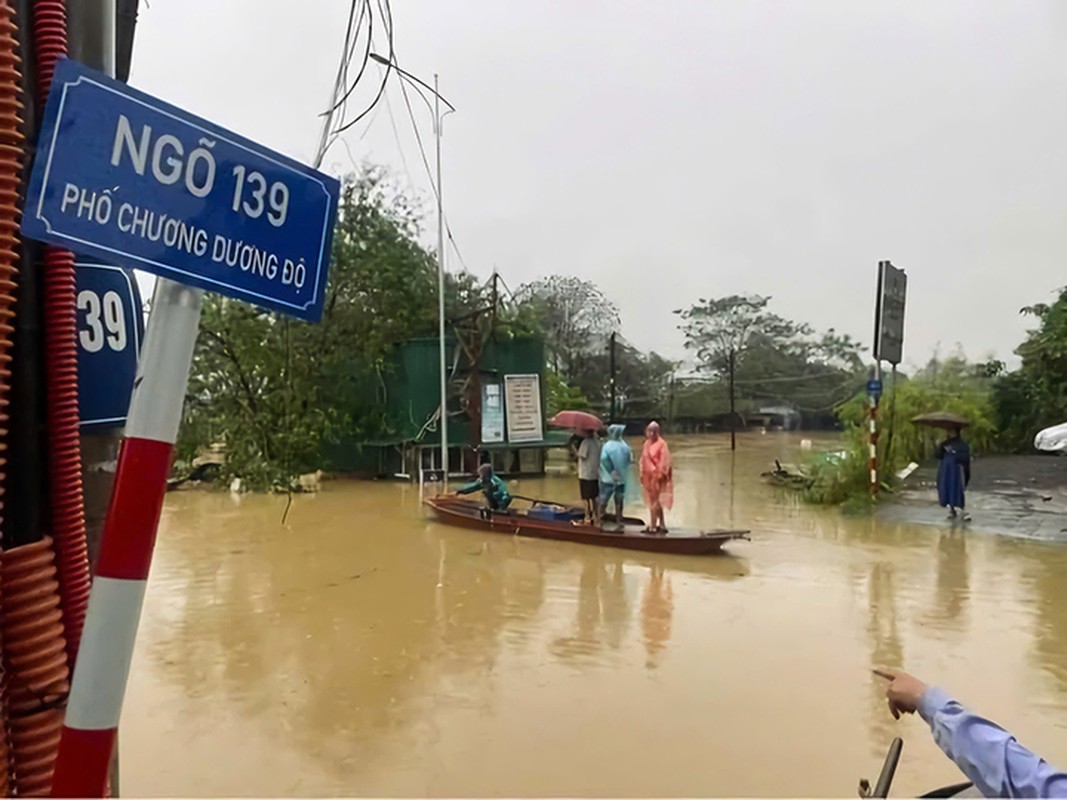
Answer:
[(200, 327), (200, 289), (159, 278), (75, 666), (52, 797), (105, 797)]

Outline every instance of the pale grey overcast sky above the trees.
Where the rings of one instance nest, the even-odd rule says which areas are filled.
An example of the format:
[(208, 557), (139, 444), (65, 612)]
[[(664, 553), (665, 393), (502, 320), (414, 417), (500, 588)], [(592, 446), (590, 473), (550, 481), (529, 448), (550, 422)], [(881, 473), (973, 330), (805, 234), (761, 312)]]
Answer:
[[(142, 3), (130, 81), (310, 160), (348, 5)], [(1026, 329), (1019, 308), (1067, 285), (1065, 3), (393, 11), (398, 63), (428, 82), (440, 73), (459, 110), (443, 182), (466, 265), (481, 276), (495, 266), (512, 288), (556, 272), (593, 281), (642, 348), (681, 355), (672, 309), (735, 292), (870, 345), (888, 258), (909, 277), (907, 362), (956, 342), (1009, 358)], [(346, 134), (351, 158), (389, 165), (429, 201), (399, 89), (388, 97)], [(431, 144), (420, 102), (415, 113)], [(323, 167), (353, 164), (337, 145)]]

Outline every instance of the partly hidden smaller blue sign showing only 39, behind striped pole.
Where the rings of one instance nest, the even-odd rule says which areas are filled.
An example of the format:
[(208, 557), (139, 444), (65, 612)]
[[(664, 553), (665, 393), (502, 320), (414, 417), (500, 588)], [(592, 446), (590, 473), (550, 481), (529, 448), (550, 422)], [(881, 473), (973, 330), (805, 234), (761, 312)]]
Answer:
[(126, 425), (144, 339), (141, 292), (131, 270), (79, 260), (78, 416), (82, 429)]

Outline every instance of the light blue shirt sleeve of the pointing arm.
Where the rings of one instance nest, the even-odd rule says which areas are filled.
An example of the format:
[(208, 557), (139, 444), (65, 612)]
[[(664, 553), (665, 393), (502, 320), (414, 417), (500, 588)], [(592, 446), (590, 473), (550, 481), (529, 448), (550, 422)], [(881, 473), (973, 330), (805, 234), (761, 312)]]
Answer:
[(919, 715), (930, 726), (938, 747), (985, 797), (1067, 798), (1067, 774), (941, 689), (926, 690), (919, 701)]

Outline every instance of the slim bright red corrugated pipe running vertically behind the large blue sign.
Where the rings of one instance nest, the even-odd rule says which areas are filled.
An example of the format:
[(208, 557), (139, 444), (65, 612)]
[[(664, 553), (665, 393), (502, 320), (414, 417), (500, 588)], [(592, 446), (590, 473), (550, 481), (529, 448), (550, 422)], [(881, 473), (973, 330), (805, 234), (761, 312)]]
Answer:
[[(33, 3), (33, 46), (37, 102), (44, 107), (55, 62), (66, 55), (66, 4)], [(81, 486), (81, 439), (78, 420), (78, 320), (74, 254), (45, 249), (45, 377), (48, 419), (48, 473), (51, 534), (60, 576), (60, 602), (66, 652), (74, 669), (89, 608), (91, 576)]]

